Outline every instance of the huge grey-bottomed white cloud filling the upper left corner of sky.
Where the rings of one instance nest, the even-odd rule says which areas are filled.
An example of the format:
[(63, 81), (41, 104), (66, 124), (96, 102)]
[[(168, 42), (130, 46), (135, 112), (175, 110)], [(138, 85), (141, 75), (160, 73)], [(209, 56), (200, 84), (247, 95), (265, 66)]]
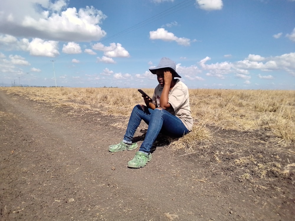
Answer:
[(68, 1), (2, 0), (0, 30), (15, 37), (35, 36), (58, 41), (99, 40), (106, 35), (99, 24), (106, 18), (93, 6), (66, 8)]

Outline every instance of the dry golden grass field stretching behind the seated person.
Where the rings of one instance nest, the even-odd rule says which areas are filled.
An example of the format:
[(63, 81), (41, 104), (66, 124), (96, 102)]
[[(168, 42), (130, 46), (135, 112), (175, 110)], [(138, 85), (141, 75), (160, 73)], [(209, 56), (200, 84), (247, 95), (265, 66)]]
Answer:
[[(133, 88), (10, 87), (0, 90), (23, 95), (30, 100), (48, 102), (55, 107), (70, 106), (123, 116), (126, 117), (125, 121), (134, 105), (143, 103), (141, 94)], [(144, 90), (153, 95), (153, 89)], [(295, 141), (295, 91), (191, 89), (189, 93), (194, 129), (185, 136), (180, 146), (190, 146), (189, 143), (196, 138), (210, 139), (206, 128), (208, 125), (238, 131), (268, 128), (283, 142)]]

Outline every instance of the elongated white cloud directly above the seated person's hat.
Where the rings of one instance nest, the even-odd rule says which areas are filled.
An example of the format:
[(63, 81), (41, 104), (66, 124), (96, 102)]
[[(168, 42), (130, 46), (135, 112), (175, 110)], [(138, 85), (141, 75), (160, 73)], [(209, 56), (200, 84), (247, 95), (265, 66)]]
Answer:
[(150, 39), (160, 39), (163, 41), (175, 41), (177, 44), (183, 45), (183, 46), (189, 46), (191, 43), (191, 40), (188, 38), (179, 38), (176, 37), (172, 32), (168, 32), (164, 28), (158, 28), (156, 31), (150, 31)]

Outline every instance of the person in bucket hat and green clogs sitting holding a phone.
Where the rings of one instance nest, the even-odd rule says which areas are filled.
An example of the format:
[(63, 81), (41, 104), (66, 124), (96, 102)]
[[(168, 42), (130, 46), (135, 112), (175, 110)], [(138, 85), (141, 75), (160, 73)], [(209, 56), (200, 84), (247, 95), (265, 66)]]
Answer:
[(174, 79), (181, 77), (176, 72), (175, 62), (163, 57), (157, 67), (149, 70), (157, 75), (159, 82), (152, 100), (142, 95), (145, 105), (136, 105), (133, 108), (123, 140), (119, 144), (109, 146), (110, 152), (136, 149), (137, 144), (132, 143), (132, 139), (141, 120), (145, 121), (148, 131), (139, 151), (128, 162), (128, 167), (131, 168), (143, 167), (152, 159), (150, 149), (160, 132), (181, 137), (193, 127), (189, 90), (179, 79)]

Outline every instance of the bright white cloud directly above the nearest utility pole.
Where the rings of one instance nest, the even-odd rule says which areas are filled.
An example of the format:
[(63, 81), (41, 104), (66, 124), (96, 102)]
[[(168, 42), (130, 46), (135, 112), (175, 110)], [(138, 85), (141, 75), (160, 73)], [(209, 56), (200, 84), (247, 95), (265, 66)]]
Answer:
[[(28, 40), (25, 39), (24, 42), (28, 43)], [(58, 42), (44, 41), (40, 38), (34, 38), (28, 43), (26, 50), (30, 51), (30, 55), (34, 56), (55, 57), (59, 55)]]

